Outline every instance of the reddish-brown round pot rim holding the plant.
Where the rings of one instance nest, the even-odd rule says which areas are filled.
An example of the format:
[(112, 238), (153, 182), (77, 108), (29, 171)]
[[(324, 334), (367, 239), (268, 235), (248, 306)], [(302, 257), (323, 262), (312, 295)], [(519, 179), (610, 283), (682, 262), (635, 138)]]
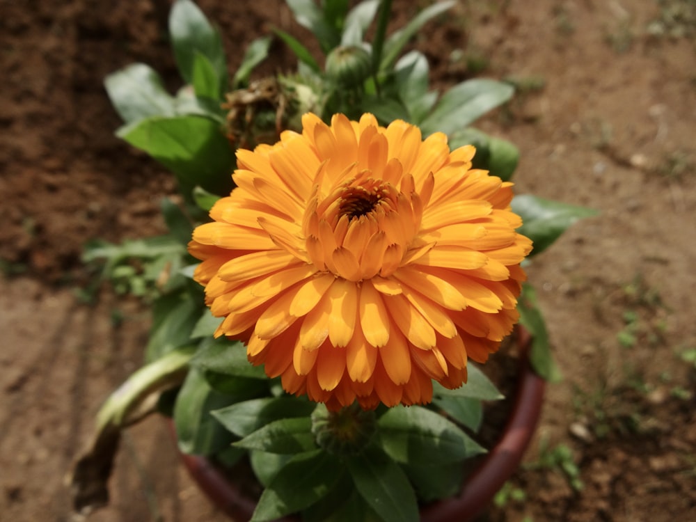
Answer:
[[(469, 475), (458, 496), (421, 508), (422, 521), (466, 522), (474, 519), (491, 503), (496, 492), (519, 466), (537, 427), (546, 381), (530, 368), (530, 334), (518, 328), (516, 342), (520, 354), (519, 382), (512, 413), (500, 440)], [(219, 509), (237, 522), (251, 519), (255, 500), (233, 487), (208, 459), (187, 454), (182, 454), (182, 459), (193, 480)], [(278, 522), (297, 521), (299, 517), (287, 516)]]

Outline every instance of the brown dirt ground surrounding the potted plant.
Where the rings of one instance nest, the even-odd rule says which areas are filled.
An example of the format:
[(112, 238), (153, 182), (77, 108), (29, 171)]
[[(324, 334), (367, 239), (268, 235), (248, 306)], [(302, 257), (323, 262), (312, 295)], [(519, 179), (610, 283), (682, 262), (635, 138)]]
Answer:
[[(230, 70), (281, 2), (199, 5)], [(426, 2), (395, 1), (399, 19)], [(176, 88), (166, 0), (0, 1), (0, 521), (68, 521), (63, 476), (141, 361), (148, 314), (79, 299), (87, 239), (162, 230), (171, 177), (113, 136), (102, 87), (133, 61)], [(521, 149), (520, 193), (599, 209), (529, 269), (564, 374), (526, 464), (482, 521), (696, 520), (696, 3), (461, 1), (416, 45), (444, 87), (506, 78), (480, 127)], [(236, 53), (236, 54), (235, 54)], [(294, 66), (278, 43), (262, 72)], [(224, 517), (161, 420), (130, 430), (95, 522)]]

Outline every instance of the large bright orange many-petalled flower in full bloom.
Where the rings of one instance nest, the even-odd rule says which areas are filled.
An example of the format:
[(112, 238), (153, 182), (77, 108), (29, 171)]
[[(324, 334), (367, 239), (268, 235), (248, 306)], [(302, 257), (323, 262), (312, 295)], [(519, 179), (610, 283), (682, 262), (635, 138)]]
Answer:
[(511, 183), (472, 170), (397, 120), (314, 114), (303, 132), (237, 151), (237, 188), (193, 232), (216, 335), (289, 393), (339, 409), (432, 400), (432, 379), (466, 382), (518, 319)]

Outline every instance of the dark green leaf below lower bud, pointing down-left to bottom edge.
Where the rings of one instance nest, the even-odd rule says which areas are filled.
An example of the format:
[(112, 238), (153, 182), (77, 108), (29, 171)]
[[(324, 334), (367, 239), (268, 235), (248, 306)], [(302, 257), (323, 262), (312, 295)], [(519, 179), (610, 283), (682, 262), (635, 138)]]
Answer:
[(340, 462), (331, 454), (317, 450), (295, 455), (264, 489), (251, 522), (299, 512), (326, 496), (341, 477)]

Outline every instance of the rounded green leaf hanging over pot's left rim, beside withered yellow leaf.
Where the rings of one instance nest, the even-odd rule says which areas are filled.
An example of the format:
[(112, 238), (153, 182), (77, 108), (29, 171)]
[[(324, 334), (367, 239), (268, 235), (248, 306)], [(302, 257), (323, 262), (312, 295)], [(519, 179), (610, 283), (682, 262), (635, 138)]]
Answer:
[(174, 405), (174, 425), (179, 449), (188, 454), (212, 454), (232, 442), (210, 414), (230, 403), (230, 397), (212, 390), (203, 374), (190, 370)]

